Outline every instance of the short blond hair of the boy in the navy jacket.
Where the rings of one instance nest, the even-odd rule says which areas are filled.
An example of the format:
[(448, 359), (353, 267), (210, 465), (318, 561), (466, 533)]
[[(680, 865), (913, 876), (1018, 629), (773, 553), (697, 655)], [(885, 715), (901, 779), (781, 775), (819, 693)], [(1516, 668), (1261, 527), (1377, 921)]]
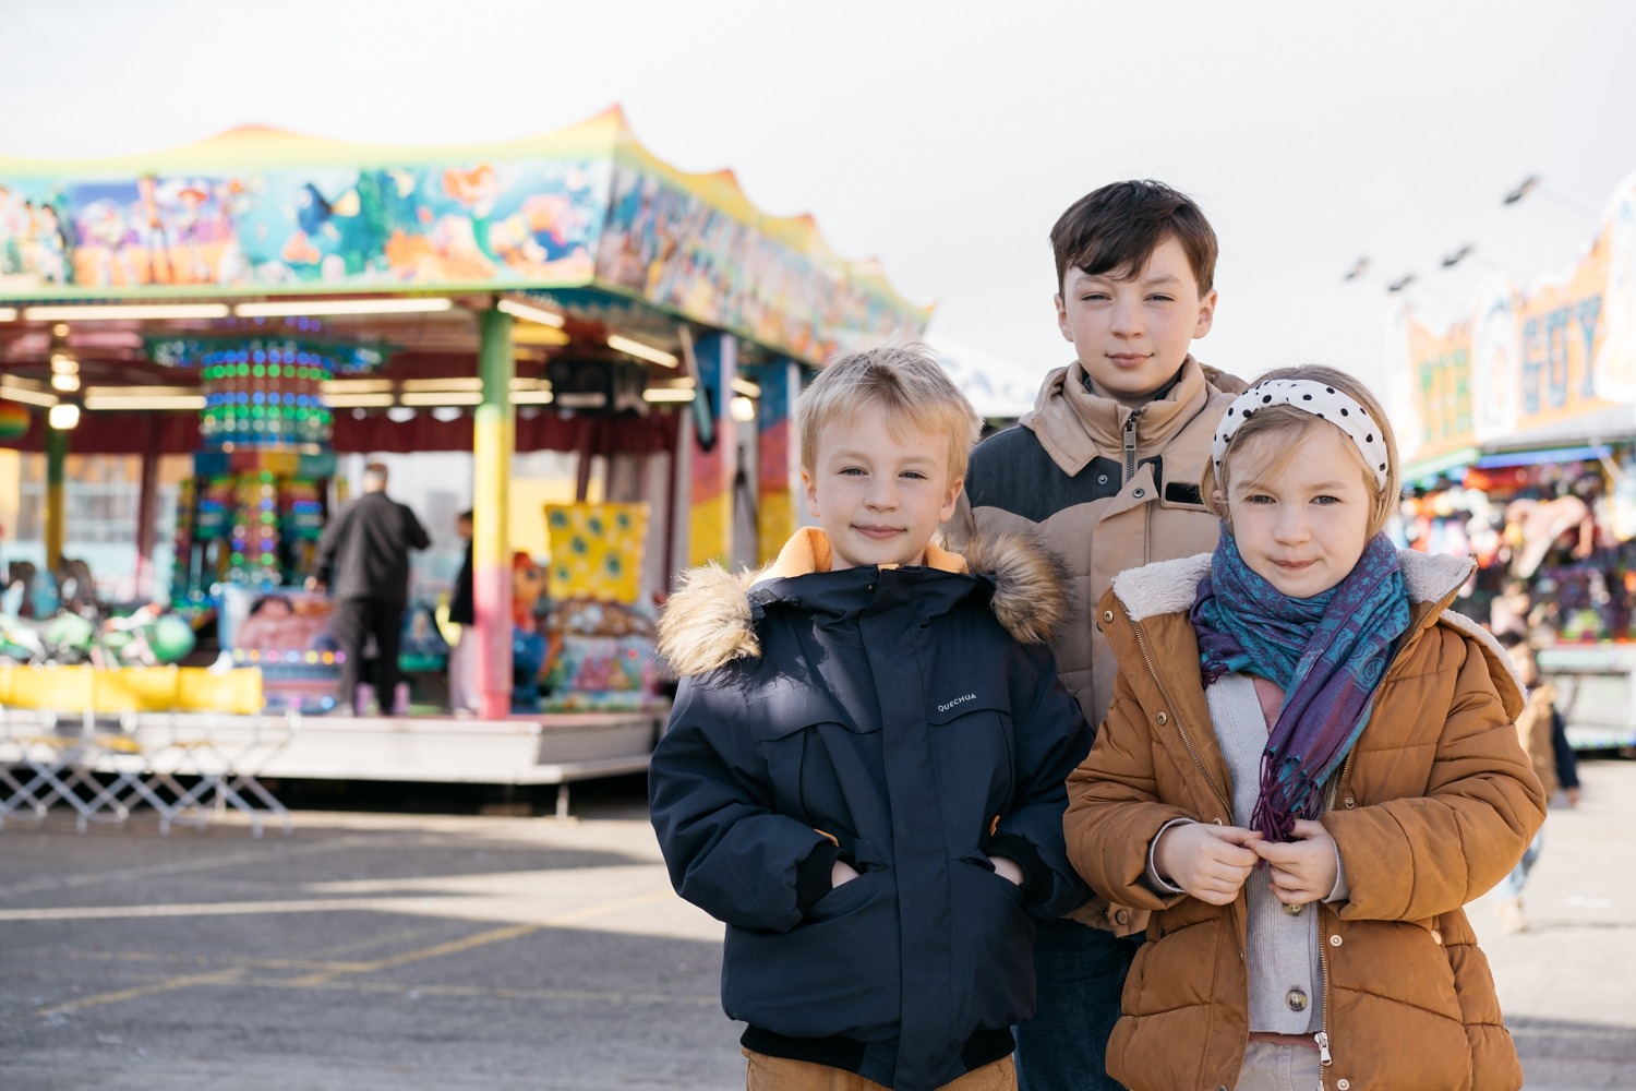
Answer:
[(900, 422), (949, 440), (949, 479), (965, 478), (972, 445), (983, 420), (926, 345), (895, 343), (834, 357), (795, 399), (802, 469), (818, 460), (818, 437), (831, 424), (851, 424), (882, 406), (897, 432)]

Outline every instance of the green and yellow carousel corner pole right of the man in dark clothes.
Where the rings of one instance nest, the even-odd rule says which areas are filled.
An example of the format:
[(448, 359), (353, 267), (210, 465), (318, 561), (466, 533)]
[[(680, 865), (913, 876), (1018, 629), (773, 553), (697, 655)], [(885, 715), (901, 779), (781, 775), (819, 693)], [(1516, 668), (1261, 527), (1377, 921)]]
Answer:
[(478, 641), (478, 715), (499, 720), (510, 715), (512, 698), (512, 571), (506, 514), (510, 463), (515, 447), (515, 411), (510, 404), (512, 319), (497, 308), (481, 314), (483, 343), (478, 376), (483, 401), (473, 432), (474, 496), (471, 517), (471, 590)]

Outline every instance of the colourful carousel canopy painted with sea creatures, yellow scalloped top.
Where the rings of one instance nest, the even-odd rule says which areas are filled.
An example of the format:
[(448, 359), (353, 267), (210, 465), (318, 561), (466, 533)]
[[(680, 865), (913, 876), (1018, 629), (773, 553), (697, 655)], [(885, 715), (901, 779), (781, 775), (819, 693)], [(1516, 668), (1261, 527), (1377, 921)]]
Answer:
[[(240, 128), (142, 155), (0, 157), (0, 366), (43, 360), (59, 321), (85, 337), (82, 357), (141, 366), (142, 335), (234, 335), (319, 296), (363, 314), (303, 332), (366, 332), (427, 357), (470, 357), (471, 308), (494, 296), (538, 308), (540, 347), (617, 335), (638, 357), (674, 357), (692, 326), (733, 332), (751, 355), (820, 363), (919, 335), (929, 317), (872, 262), (836, 255), (811, 218), (756, 209), (731, 172), (656, 159), (617, 106), (483, 146)], [(453, 306), (412, 309), (430, 298)], [(383, 299), (411, 309), (368, 306)], [(101, 340), (85, 311), (43, 309), (159, 303), (200, 309), (98, 319)]]

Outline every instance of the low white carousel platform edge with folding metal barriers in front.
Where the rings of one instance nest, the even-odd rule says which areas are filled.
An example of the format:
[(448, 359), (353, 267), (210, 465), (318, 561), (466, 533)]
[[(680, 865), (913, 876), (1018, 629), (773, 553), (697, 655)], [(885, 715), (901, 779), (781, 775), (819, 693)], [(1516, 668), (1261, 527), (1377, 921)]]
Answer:
[(229, 810), (254, 836), (288, 833), (276, 780), (569, 785), (648, 767), (669, 710), (504, 720), (283, 713), (54, 713), (0, 710), (0, 826), (72, 808), (80, 829), (152, 806), (160, 829)]

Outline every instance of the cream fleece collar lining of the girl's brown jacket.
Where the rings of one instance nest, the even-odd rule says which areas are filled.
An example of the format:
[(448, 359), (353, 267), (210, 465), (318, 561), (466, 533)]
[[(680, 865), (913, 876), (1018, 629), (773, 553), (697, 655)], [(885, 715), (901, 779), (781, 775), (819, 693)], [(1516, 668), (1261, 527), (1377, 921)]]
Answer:
[[(1441, 602), (1471, 577), (1476, 561), (1469, 556), (1453, 556), (1448, 553), (1420, 553), (1418, 550), (1399, 550), (1397, 561), (1404, 569), (1404, 584), (1409, 587), (1410, 602)], [(1158, 561), (1144, 564), (1114, 576), (1114, 595), (1130, 615), (1132, 622), (1150, 618), (1160, 613), (1184, 613), (1193, 608), (1199, 581), (1211, 572), (1211, 554), (1180, 558), (1176, 561)], [(1523, 689), (1521, 676), (1512, 662), (1510, 654), (1500, 646), (1489, 630), (1472, 622), (1458, 610), (1445, 608), (1432, 622), (1443, 622), (1482, 644), (1484, 653)]]

